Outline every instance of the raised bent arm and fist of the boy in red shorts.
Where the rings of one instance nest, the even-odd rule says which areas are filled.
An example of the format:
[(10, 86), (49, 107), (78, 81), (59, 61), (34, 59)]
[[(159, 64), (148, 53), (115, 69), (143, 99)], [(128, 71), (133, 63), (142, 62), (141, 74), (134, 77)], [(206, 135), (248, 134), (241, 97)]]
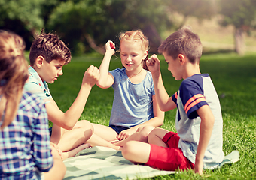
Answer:
[(156, 92), (157, 103), (159, 104), (160, 110), (173, 110), (176, 107), (176, 104), (172, 101), (172, 98), (169, 97), (164, 88), (160, 72), (160, 60), (157, 58), (157, 55), (152, 55), (151, 58), (148, 59), (147, 66), (153, 77), (154, 91)]

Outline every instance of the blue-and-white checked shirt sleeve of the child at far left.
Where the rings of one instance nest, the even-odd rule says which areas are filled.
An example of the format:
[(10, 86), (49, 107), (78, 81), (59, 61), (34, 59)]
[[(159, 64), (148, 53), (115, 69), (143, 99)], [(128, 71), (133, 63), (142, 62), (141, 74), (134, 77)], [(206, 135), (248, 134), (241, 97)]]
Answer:
[(42, 102), (38, 118), (34, 121), (34, 155), (35, 165), (41, 172), (48, 172), (53, 166), (53, 157), (50, 151), (50, 135), (48, 130), (47, 112)]

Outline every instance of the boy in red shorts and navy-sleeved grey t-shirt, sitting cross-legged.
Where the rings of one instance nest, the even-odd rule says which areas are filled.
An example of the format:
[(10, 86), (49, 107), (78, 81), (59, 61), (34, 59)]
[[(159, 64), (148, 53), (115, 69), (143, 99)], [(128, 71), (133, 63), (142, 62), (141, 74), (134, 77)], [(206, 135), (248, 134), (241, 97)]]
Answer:
[(200, 73), (203, 46), (197, 34), (182, 28), (159, 47), (175, 80), (183, 79), (172, 97), (166, 92), (157, 55), (148, 59), (160, 110), (177, 107), (177, 133), (155, 128), (148, 143), (129, 141), (122, 154), (134, 163), (145, 163), (164, 170), (214, 169), (224, 159), (222, 151), (222, 115), (218, 95), (209, 74)]

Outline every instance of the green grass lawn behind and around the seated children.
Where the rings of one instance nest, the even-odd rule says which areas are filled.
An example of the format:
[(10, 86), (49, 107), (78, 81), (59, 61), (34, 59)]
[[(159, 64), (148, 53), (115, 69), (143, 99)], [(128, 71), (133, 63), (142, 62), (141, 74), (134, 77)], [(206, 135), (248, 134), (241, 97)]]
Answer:
[[(163, 56), (159, 58), (163, 60)], [(64, 66), (64, 74), (50, 84), (50, 92), (59, 108), (69, 109), (75, 101), (81, 86), (84, 71), (90, 65), (99, 67), (102, 55), (84, 55), (72, 58)], [(120, 68), (120, 60), (114, 57), (110, 69)], [(218, 92), (224, 120), (224, 154), (238, 150), (240, 160), (221, 169), (205, 170), (204, 175), (181, 172), (153, 179), (256, 179), (256, 54), (240, 57), (234, 53), (203, 55), (200, 62), (201, 73), (209, 73)], [(166, 62), (161, 62), (163, 83), (172, 95), (181, 81), (175, 81), (167, 70)], [(108, 125), (113, 101), (113, 89), (99, 89), (93, 86), (81, 119)], [(166, 112), (163, 128), (175, 131), (175, 110)]]

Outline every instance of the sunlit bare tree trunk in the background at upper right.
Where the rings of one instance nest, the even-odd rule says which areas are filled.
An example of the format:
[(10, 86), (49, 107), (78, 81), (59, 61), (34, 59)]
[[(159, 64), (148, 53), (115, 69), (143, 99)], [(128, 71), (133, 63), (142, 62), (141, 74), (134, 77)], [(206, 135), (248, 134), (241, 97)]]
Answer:
[(239, 55), (245, 54), (245, 31), (242, 28), (236, 28), (235, 30), (235, 49)]

